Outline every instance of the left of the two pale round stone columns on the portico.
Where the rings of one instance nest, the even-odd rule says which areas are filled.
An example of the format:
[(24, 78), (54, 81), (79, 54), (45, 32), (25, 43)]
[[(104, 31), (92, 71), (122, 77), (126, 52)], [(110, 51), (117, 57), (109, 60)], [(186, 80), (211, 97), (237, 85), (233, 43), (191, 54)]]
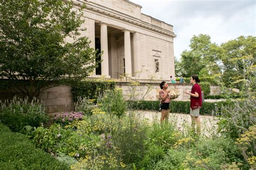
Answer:
[(107, 49), (107, 25), (100, 23), (100, 48), (102, 55), (102, 75), (109, 76), (109, 52)]

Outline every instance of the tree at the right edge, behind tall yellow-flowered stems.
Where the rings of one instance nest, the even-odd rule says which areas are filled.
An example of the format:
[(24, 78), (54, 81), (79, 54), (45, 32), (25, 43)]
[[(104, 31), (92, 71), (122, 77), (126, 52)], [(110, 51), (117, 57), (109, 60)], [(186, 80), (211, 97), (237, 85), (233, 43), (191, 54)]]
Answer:
[(223, 81), (226, 86), (241, 89), (254, 77), (256, 63), (256, 37), (240, 36), (221, 44), (223, 54)]

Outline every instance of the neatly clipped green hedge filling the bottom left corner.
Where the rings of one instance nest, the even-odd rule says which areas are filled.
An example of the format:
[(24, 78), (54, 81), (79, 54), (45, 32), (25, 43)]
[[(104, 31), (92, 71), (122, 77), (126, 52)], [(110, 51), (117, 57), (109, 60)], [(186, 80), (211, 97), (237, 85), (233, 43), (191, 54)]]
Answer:
[(68, 165), (39, 148), (24, 134), (11, 132), (0, 123), (1, 169), (70, 169)]

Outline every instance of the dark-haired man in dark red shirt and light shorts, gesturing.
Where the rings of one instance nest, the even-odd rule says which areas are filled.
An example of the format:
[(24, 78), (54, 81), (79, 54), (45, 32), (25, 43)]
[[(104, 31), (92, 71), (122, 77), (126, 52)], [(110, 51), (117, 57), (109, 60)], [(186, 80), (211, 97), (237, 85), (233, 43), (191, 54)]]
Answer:
[(200, 119), (199, 111), (202, 107), (202, 94), (201, 87), (199, 86), (199, 77), (197, 75), (192, 75), (190, 78), (190, 83), (193, 85), (191, 91), (185, 91), (185, 94), (190, 95), (190, 116), (192, 120), (192, 128), (195, 128), (195, 122), (197, 124), (197, 131), (200, 133)]

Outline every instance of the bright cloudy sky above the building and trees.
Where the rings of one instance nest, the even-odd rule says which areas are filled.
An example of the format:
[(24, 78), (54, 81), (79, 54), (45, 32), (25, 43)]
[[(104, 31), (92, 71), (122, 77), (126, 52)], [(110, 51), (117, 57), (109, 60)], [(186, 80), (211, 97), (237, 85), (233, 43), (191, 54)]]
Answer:
[(256, 0), (130, 0), (142, 13), (173, 25), (174, 56), (190, 50), (193, 35), (208, 34), (220, 45), (239, 36), (256, 36)]

